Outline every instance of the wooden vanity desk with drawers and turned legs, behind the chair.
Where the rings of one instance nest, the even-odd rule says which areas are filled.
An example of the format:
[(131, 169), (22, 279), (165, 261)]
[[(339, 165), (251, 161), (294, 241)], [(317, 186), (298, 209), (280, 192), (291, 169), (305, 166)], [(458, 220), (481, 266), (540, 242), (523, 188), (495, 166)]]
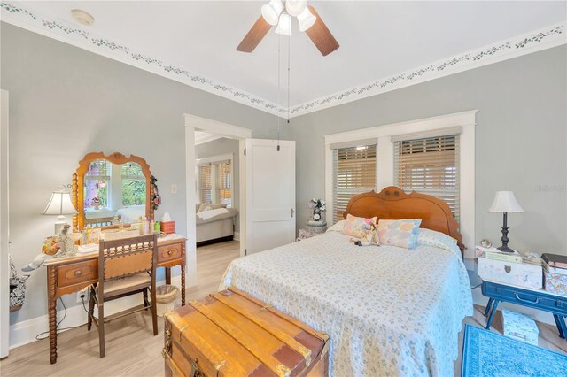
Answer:
[[(171, 284), (171, 267), (181, 266), (181, 303), (185, 304), (185, 241), (181, 235), (158, 239), (158, 267), (166, 268), (166, 284)], [(45, 261), (50, 324), (50, 362), (57, 361), (57, 311), (60, 296), (78, 292), (98, 281), (98, 250), (75, 257)], [(85, 320), (87, 319), (85, 315)]]

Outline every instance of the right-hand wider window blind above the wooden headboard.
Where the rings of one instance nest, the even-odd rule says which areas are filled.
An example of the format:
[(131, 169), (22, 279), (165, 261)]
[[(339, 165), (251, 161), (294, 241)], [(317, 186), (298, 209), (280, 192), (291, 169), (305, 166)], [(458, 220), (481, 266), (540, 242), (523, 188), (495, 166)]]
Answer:
[(394, 142), (394, 181), (404, 191), (437, 196), (460, 215), (459, 135)]

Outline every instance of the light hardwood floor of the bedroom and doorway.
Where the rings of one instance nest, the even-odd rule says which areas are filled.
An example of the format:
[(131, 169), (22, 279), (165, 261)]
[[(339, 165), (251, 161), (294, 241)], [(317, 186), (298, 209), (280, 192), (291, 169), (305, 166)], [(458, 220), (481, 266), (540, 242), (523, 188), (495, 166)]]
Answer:
[[(206, 296), (218, 288), (222, 273), (239, 256), (238, 242), (222, 242), (197, 250), (198, 287), (187, 292), (187, 299)], [(177, 303), (179, 305), (180, 303)], [(484, 308), (475, 305), (474, 315), (463, 323), (484, 327)], [(85, 313), (86, 316), (86, 313)], [(77, 327), (58, 335), (58, 362), (50, 365), (49, 340), (33, 342), (10, 351), (0, 360), (2, 376), (160, 376), (163, 375), (163, 321), (159, 335), (151, 335), (151, 316), (138, 312), (106, 325), (106, 357), (98, 358), (97, 330)], [(65, 323), (63, 324), (65, 325)], [(567, 354), (567, 342), (556, 327), (538, 323), (540, 346)], [(493, 320), (493, 331), (501, 332), (501, 313)], [(462, 332), (459, 335), (462, 350)], [(461, 352), (454, 362), (454, 375), (461, 374)]]

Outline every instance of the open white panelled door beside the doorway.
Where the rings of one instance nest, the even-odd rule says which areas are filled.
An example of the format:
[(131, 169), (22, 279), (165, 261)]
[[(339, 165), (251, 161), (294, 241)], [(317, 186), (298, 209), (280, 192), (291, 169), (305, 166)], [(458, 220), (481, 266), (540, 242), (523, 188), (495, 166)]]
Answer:
[(295, 142), (246, 139), (246, 254), (295, 240)]

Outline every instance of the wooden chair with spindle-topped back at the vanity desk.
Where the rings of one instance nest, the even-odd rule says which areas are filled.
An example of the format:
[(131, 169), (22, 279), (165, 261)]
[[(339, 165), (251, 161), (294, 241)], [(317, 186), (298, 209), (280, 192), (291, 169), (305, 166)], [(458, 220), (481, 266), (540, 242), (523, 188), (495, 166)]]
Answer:
[[(120, 240), (99, 242), (98, 283), (90, 287), (89, 320), (87, 330), (93, 321), (98, 328), (100, 357), (105, 357), (105, 301), (142, 293), (144, 307), (123, 313), (113, 319), (134, 312), (151, 309), (153, 335), (158, 335), (156, 312), (156, 264), (158, 258), (158, 235), (143, 235)], [(148, 301), (151, 290), (151, 304)], [(95, 304), (98, 318), (94, 316)]]

